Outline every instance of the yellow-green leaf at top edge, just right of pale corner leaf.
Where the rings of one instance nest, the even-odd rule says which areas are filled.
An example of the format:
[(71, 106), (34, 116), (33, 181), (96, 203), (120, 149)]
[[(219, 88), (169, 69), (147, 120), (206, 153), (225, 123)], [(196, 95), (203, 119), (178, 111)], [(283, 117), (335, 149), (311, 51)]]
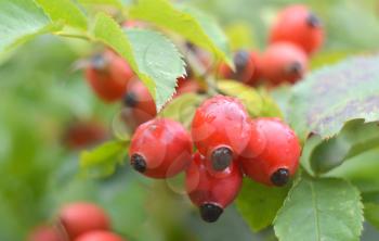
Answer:
[(43, 11), (53, 20), (81, 29), (87, 29), (87, 17), (70, 0), (36, 0)]

